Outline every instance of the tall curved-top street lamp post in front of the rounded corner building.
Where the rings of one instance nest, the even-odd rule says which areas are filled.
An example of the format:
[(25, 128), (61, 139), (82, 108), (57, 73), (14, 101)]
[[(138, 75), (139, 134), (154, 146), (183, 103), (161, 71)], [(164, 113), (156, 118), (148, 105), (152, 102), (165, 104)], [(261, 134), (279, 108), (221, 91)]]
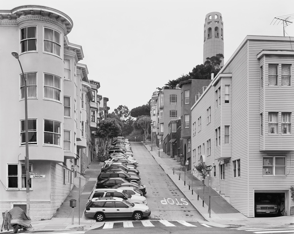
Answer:
[[(19, 61), (19, 54), (16, 51), (11, 52), (12, 56)], [(29, 131), (28, 131), (28, 98), (27, 98), (27, 86), (26, 77), (24, 76), (24, 70), (21, 67), (19, 61), (22, 75), (24, 77), (24, 112), (25, 112), (25, 136), (26, 136), (26, 157), (25, 157), (25, 167), (26, 167), (26, 214), (30, 216), (30, 173), (29, 173)]]

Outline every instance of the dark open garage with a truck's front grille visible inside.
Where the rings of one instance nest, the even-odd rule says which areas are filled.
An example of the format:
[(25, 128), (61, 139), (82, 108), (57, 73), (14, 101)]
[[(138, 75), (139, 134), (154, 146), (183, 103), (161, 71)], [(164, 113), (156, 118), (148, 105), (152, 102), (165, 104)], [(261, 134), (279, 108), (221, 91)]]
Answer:
[(285, 192), (255, 192), (255, 217), (285, 216)]

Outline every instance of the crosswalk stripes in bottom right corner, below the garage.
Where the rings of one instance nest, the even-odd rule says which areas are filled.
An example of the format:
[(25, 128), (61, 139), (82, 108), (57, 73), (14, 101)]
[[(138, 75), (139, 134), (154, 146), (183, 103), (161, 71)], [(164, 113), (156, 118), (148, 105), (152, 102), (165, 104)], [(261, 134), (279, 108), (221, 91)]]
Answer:
[(240, 227), (233, 228), (236, 230), (243, 230), (252, 233), (285, 233), (285, 234), (294, 234), (294, 225), (291, 226), (276, 226), (276, 227)]

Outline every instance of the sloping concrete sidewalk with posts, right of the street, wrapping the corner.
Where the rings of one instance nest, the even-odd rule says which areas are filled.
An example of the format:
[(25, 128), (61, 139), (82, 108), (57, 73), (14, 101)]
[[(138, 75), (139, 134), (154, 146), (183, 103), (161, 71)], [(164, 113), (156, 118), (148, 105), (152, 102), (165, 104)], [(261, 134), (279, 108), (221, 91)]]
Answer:
[[(143, 143), (143, 142), (142, 142)], [(209, 202), (209, 188), (204, 188), (204, 207), (203, 207), (203, 184), (200, 180), (193, 177), (193, 195), (192, 195), (192, 174), (191, 171), (186, 172), (186, 178), (184, 177), (184, 171), (181, 170), (181, 163), (171, 158), (169, 155), (159, 150), (158, 147), (153, 145), (153, 151), (151, 151), (151, 142), (147, 142), (147, 145), (143, 143), (146, 149), (158, 162), (161, 168), (166, 172), (168, 177), (174, 182), (181, 192), (186, 196), (203, 219), (206, 220), (203, 223), (210, 223), (213, 226), (227, 227), (227, 226), (281, 226), (294, 223), (294, 217), (281, 216), (281, 217), (265, 217), (265, 218), (247, 218), (238, 210), (233, 208), (224, 198), (222, 198), (216, 191), (211, 189), (211, 217), (208, 213)], [(174, 170), (174, 172), (173, 172)], [(181, 175), (180, 175), (181, 173)], [(179, 180), (180, 175), (180, 180)], [(186, 185), (184, 185), (186, 181)], [(189, 190), (190, 185), (190, 190)], [(197, 200), (197, 194), (199, 194), (199, 200)]]

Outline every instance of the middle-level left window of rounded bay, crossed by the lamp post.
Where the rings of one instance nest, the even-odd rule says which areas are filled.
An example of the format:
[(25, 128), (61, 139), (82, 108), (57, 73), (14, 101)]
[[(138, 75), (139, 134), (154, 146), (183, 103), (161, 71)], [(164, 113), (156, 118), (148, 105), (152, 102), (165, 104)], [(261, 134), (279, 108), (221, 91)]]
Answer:
[(26, 92), (27, 98), (37, 97), (37, 73), (25, 73), (24, 76), (20, 76), (20, 93), (21, 99), (24, 99), (24, 77), (26, 78)]

